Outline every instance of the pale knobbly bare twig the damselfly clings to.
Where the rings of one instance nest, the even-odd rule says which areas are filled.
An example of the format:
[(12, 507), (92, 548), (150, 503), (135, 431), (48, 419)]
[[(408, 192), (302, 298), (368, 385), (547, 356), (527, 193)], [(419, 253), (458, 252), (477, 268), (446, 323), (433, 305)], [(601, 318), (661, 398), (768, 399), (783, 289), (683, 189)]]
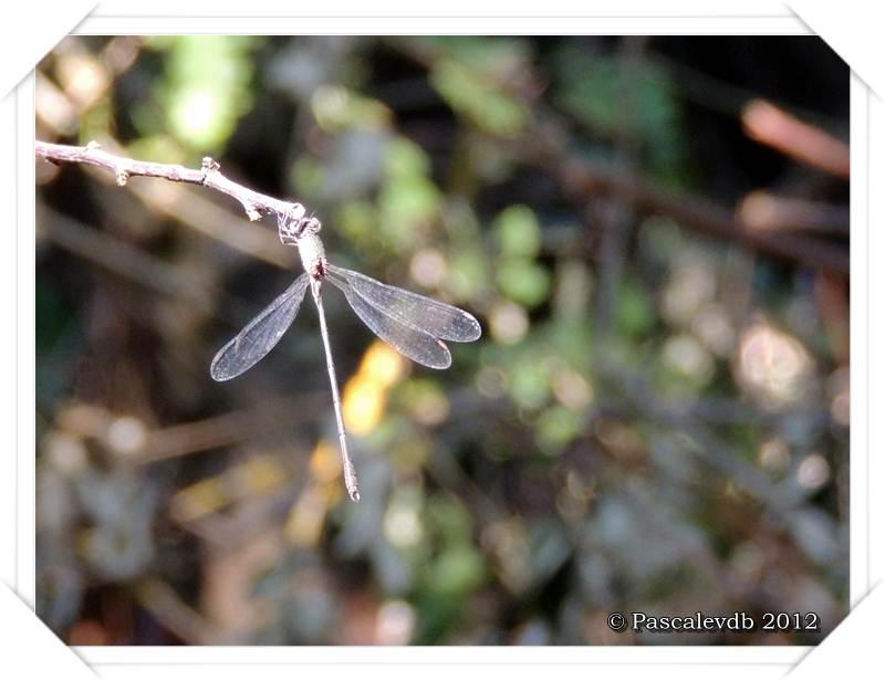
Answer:
[(86, 164), (104, 168), (114, 174), (117, 185), (121, 187), (124, 187), (129, 178), (135, 176), (159, 177), (173, 182), (201, 185), (237, 199), (252, 221), (260, 220), (266, 213), (274, 213), (278, 218), (299, 219), (306, 212), (301, 203), (274, 199), (238, 185), (221, 175), (221, 167), (208, 156), (202, 159), (202, 166), (199, 169), (194, 169), (175, 164), (157, 164), (117, 156), (105, 151), (97, 142), (91, 142), (85, 147), (73, 147), (39, 139), (34, 143), (34, 154), (54, 164)]

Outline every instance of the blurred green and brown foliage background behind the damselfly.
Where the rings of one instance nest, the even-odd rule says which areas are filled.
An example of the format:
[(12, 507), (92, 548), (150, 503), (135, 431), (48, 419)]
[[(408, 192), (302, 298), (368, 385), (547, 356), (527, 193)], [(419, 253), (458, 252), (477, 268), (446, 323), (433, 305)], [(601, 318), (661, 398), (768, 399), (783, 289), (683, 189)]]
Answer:
[[(472, 311), (433, 371), (209, 190), (38, 161), (38, 612), (79, 645), (813, 643), (848, 579), (848, 70), (816, 38), (70, 38), (38, 137), (295, 198)], [(621, 633), (612, 610), (821, 616)]]

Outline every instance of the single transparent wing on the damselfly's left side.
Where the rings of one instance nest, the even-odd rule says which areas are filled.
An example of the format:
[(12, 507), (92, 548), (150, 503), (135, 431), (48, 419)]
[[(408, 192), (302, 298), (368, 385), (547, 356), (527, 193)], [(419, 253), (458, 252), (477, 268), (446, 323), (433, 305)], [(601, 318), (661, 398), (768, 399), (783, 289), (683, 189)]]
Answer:
[(229, 380), (239, 376), (273, 349), (294, 322), (309, 282), (306, 273), (299, 276), (295, 283), (218, 350), (209, 367), (212, 378)]

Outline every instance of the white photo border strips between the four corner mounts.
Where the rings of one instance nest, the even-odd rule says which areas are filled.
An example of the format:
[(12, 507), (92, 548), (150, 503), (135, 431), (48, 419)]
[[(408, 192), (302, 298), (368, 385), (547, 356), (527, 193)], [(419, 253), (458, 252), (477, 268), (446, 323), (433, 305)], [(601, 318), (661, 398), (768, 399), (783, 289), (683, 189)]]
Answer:
[[(221, 3), (222, 6), (230, 3)], [(719, 3), (717, 3), (719, 4)], [(725, 7), (736, 3), (721, 3)], [(761, 3), (753, 3), (757, 7)], [(771, 3), (767, 3), (770, 6)], [(648, 6), (650, 7), (650, 6)], [(197, 12), (200, 8), (188, 8)], [(206, 10), (217, 11), (218, 3)], [(720, 8), (717, 8), (720, 9)], [(706, 8), (710, 11), (710, 8)], [(108, 10), (110, 11), (110, 10)], [(658, 10), (660, 11), (660, 10)], [(720, 11), (722, 11), (720, 9)], [(761, 11), (761, 10), (759, 10)], [(795, 15), (785, 12), (741, 17), (679, 15), (641, 17), (600, 14), (597, 17), (300, 17), (252, 18), (137, 17), (103, 13), (103, 9), (81, 23), (74, 34), (811, 34)], [(852, 74), (851, 83), (851, 605), (871, 589), (868, 488), (868, 275), (872, 255), (868, 247), (870, 218), (870, 108), (868, 87)], [(15, 95), (15, 353), (17, 418), (13, 468), (17, 481), (14, 572), (15, 591), (32, 608), (34, 604), (34, 165), (33, 165), (33, 76), (25, 78)], [(7, 203), (8, 206), (8, 203)], [(4, 272), (9, 277), (11, 270)], [(10, 356), (10, 355), (7, 355)], [(31, 368), (29, 368), (31, 367)], [(810, 647), (80, 647), (76, 653), (91, 667), (104, 672), (148, 664), (351, 664), (386, 663), (556, 663), (556, 664), (737, 664), (774, 666), (783, 673), (800, 661)], [(590, 670), (587, 670), (590, 671)], [(746, 670), (745, 670), (746, 671)], [(226, 674), (222, 674), (226, 678)]]

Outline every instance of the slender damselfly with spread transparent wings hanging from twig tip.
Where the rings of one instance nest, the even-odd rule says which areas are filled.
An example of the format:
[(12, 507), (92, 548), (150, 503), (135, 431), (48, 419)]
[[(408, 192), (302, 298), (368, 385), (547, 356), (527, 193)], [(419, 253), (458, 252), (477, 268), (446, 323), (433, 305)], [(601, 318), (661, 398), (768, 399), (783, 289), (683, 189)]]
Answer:
[(304, 273), (218, 350), (209, 373), (215, 380), (225, 381), (258, 364), (295, 321), (304, 294), (310, 289), (320, 316), (320, 335), (332, 386), (344, 486), (351, 500), (356, 502), (360, 501), (360, 485), (347, 452), (335, 364), (323, 311), (323, 283), (331, 282), (344, 294), (356, 316), (372, 333), (399, 354), (433, 369), (451, 366), (451, 353), (445, 340), (476, 340), (482, 329), (473, 315), (459, 307), (333, 265), (326, 260), (325, 249), (320, 240), (322, 223), (316, 217), (308, 217), (305, 212), (303, 206), (295, 203), (288, 213), (278, 213), (280, 240), (284, 245), (298, 247)]

